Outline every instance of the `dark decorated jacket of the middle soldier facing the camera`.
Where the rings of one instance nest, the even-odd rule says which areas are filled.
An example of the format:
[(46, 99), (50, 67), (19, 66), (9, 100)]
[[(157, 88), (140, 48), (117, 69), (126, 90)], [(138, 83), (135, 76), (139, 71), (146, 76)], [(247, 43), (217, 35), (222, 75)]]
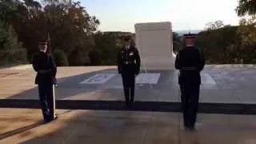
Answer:
[(138, 50), (131, 46), (124, 46), (118, 53), (118, 72), (119, 74), (138, 74), (140, 71), (141, 60)]

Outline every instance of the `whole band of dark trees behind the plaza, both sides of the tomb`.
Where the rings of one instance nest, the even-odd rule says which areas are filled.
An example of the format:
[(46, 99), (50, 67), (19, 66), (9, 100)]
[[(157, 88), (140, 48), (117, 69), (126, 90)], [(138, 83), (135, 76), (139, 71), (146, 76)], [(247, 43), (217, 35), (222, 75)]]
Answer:
[[(256, 0), (239, 0), (239, 26), (220, 20), (206, 23), (197, 45), (208, 63), (256, 63)], [(38, 41), (50, 40), (58, 66), (115, 65), (129, 32), (101, 32), (100, 22), (72, 0), (0, 1), (0, 65), (31, 62)], [(182, 38), (173, 33), (174, 51)]]

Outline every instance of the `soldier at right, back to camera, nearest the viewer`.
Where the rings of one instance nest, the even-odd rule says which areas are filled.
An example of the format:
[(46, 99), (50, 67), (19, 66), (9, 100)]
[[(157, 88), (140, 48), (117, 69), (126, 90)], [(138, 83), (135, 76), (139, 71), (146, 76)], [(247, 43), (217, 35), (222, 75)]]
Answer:
[(185, 48), (180, 50), (175, 61), (175, 68), (180, 70), (178, 84), (182, 93), (182, 111), (184, 126), (194, 130), (198, 113), (200, 72), (205, 66), (205, 59), (194, 47), (195, 34), (184, 34)]

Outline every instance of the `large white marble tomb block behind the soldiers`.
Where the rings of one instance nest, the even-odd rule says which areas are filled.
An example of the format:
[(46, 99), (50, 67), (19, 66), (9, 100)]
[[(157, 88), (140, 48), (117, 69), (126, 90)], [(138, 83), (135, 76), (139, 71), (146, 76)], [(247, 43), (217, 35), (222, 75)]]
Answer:
[(174, 70), (174, 53), (170, 22), (135, 24), (135, 42), (142, 70)]

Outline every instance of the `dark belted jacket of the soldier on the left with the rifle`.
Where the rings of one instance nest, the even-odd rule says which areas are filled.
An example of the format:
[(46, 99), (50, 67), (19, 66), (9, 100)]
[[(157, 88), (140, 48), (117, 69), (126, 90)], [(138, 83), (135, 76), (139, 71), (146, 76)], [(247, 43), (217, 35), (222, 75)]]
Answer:
[(35, 78), (35, 84), (49, 83), (56, 84), (57, 68), (53, 58), (42, 51), (34, 55), (33, 67), (38, 72)]

